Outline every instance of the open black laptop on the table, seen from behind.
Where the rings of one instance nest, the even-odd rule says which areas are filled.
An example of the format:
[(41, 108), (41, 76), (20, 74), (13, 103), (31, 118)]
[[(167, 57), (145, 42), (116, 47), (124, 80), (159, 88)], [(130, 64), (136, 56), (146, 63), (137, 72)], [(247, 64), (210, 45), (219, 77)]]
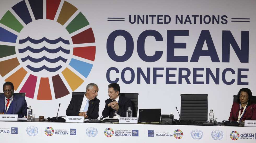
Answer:
[(160, 122), (161, 109), (139, 109), (138, 122)]

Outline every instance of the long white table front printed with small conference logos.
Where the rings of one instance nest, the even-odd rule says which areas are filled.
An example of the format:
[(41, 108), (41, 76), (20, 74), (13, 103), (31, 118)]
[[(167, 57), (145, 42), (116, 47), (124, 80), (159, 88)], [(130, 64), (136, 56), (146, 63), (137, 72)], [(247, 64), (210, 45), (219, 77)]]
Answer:
[[(38, 120), (38, 119), (36, 119)], [(256, 127), (0, 121), (1, 142), (256, 142)]]

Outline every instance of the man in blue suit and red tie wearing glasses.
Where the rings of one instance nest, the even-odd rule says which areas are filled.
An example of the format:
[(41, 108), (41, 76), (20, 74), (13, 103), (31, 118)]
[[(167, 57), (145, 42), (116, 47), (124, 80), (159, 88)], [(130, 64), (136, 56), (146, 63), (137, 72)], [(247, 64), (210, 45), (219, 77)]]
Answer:
[(13, 83), (7, 81), (3, 85), (4, 94), (0, 95), (0, 114), (18, 114), (19, 118), (27, 116), (25, 97), (14, 95)]

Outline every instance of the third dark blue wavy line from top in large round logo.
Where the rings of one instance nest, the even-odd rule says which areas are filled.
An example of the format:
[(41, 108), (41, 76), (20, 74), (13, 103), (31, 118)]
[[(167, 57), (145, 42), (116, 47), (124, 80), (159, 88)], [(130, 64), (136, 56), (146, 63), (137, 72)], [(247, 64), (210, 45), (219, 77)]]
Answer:
[(25, 58), (22, 58), (21, 60), (22, 60), (22, 62), (25, 62), (26, 60), (30, 60), (31, 62), (34, 62), (34, 63), (39, 63), (39, 62), (42, 62), (43, 60), (46, 60), (49, 63), (57, 63), (60, 60), (62, 60), (62, 62), (64, 62), (64, 63), (67, 62), (67, 59), (65, 59), (65, 58), (63, 58), (61, 56), (59, 56), (59, 57), (57, 57), (55, 59), (50, 59), (50, 58), (47, 58), (45, 56), (43, 56), (42, 58), (36, 59), (36, 58), (32, 58), (30, 56), (27, 56)]

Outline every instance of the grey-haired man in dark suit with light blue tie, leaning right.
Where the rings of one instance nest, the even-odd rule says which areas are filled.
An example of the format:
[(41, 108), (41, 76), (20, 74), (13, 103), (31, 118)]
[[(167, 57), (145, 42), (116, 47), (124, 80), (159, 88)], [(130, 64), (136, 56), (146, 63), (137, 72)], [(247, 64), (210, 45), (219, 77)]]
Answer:
[(90, 83), (86, 86), (84, 95), (72, 96), (66, 110), (67, 116), (84, 116), (87, 119), (99, 117), (100, 100), (97, 99), (99, 88), (96, 84)]

